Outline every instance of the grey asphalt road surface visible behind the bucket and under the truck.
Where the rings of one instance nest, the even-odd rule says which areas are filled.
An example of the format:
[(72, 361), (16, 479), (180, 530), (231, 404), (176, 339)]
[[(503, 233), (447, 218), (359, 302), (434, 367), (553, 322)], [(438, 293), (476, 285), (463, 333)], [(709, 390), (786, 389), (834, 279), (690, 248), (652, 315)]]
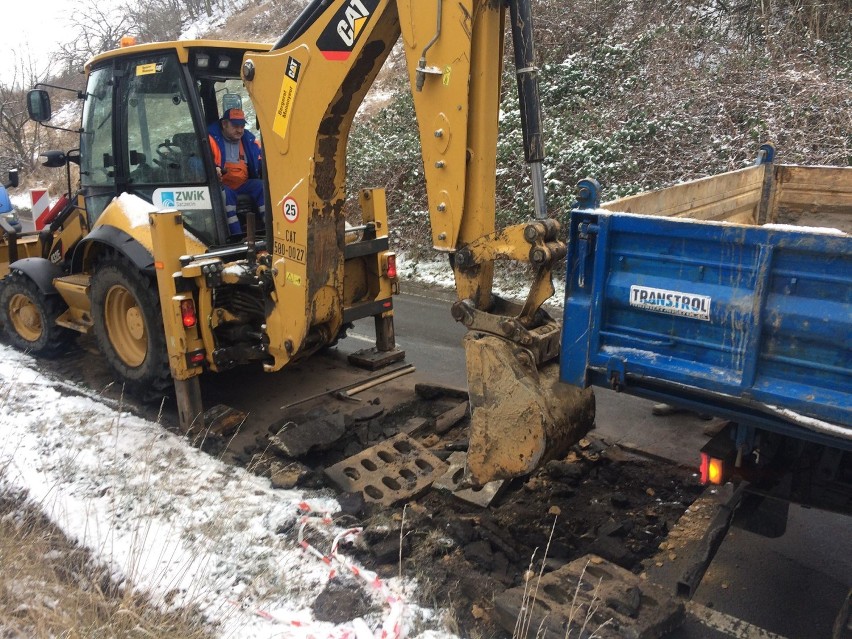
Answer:
[[(395, 300), (396, 339), (421, 379), (464, 387), (464, 327), (450, 316), (452, 299), (405, 284)], [(371, 323), (359, 323), (339, 348), (363, 348), (372, 336)], [(689, 414), (654, 417), (651, 402), (609, 390), (596, 396), (598, 436), (697, 466), (707, 422)], [(852, 518), (791, 507), (787, 532), (777, 539), (732, 528), (695, 593), (693, 602), (712, 613), (713, 627), (726, 630), (688, 623), (675, 636), (772, 636), (763, 629), (789, 639), (830, 637), (850, 587)]]

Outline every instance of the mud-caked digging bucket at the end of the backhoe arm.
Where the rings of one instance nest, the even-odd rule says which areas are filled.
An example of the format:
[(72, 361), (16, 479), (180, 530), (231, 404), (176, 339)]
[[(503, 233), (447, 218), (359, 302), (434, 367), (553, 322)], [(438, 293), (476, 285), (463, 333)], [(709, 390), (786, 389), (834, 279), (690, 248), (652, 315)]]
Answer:
[(464, 338), (471, 481), (525, 475), (564, 455), (594, 425), (595, 397), (559, 381), (559, 364), (536, 368), (529, 351), (485, 333)]

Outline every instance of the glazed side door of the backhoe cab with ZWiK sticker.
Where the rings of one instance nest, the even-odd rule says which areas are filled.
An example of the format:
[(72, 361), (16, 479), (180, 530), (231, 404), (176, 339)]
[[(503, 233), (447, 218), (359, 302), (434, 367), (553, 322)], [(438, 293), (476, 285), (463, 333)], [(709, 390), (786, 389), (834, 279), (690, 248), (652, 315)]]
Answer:
[(92, 71), (89, 85), (101, 89), (87, 99), (84, 113), (83, 156), (90, 165), (84, 186), (92, 222), (112, 196), (133, 193), (157, 208), (181, 211), (187, 229), (207, 245), (226, 237), (224, 207), (210, 185), (214, 173), (199, 100), (187, 80), (172, 51), (122, 58)]

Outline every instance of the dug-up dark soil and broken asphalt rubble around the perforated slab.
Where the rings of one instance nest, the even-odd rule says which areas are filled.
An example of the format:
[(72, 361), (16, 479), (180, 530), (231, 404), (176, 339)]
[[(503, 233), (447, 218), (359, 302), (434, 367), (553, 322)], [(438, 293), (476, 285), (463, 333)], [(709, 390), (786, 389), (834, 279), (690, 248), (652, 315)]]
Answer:
[[(458, 394), (426, 394), (429, 399), (388, 411), (380, 403), (345, 414), (335, 412), (335, 404), (314, 407), (293, 415), (286, 427), (272, 427), (282, 435), (256, 436), (231, 460), (273, 480), (276, 468), (295, 465), (294, 485), (337, 491), (337, 523), (364, 528), (361, 543), (347, 552), (383, 577), (400, 571), (416, 577), (418, 603), (453, 610), (462, 636), (511, 636), (505, 611), (500, 625), (495, 598), (522, 587), (542, 561), (547, 574), (591, 553), (640, 572), (640, 562), (654, 554), (700, 493), (690, 470), (590, 436), (530, 477), (491, 487), (485, 497), (475, 492), (460, 498), (441, 477), (466, 448), (468, 418)], [(279, 445), (288, 431), (306, 430), (296, 423), (329, 421), (345, 425), (332, 445), (318, 437), (321, 450), (299, 459), (286, 455), (293, 447)], [(395, 442), (406, 443), (394, 448)], [(409, 482), (405, 468), (412, 469)], [(381, 494), (365, 486), (379, 486)], [(340, 598), (335, 606), (346, 601)]]

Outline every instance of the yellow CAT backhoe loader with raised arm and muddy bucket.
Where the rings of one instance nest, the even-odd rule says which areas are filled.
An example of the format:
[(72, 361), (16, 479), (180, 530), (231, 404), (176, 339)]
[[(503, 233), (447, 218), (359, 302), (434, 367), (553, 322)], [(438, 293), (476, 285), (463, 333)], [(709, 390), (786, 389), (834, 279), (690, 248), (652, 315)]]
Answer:
[[(464, 339), (474, 483), (530, 472), (592, 425), (594, 399), (558, 381), (561, 326), (543, 310), (565, 255), (548, 216), (531, 0), (313, 0), (273, 45), (142, 44), (86, 67), (81, 188), (11, 264), (0, 316), (16, 343), (93, 332), (130, 388), (174, 382), (181, 422), (201, 414), (198, 375), (249, 362), (268, 371), (374, 317), (382, 361), (397, 356), (385, 194), (359, 193), (347, 241), (346, 145), (356, 111), (398, 41), (405, 52), (426, 175), (432, 243), (449, 256)], [(507, 15), (508, 14), (508, 15)], [(496, 146), (506, 25), (512, 33), (535, 218), (495, 228)], [(28, 95), (50, 118), (48, 93)], [(239, 208), (228, 235), (207, 127), (229, 108), (257, 125), (265, 212)], [(61, 155), (61, 154), (59, 154)], [(70, 185), (69, 185), (70, 187)], [(70, 191), (70, 188), (69, 188)], [(79, 228), (74, 242), (58, 234)], [(496, 262), (532, 266), (523, 304), (492, 293)], [(11, 293), (9, 291), (12, 291)], [(44, 303), (49, 299), (54, 302)], [(26, 324), (23, 317), (37, 317)]]

